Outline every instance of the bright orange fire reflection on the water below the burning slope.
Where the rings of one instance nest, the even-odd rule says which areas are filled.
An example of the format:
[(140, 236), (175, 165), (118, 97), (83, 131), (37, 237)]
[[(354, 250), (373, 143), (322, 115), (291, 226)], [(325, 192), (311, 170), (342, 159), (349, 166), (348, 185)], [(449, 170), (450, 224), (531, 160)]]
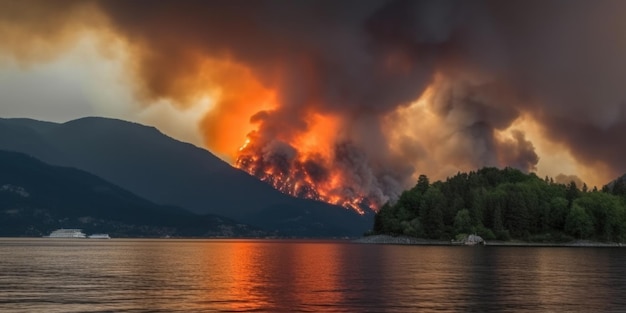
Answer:
[[(229, 241), (203, 252), (204, 304), (232, 311), (317, 307), (342, 301), (340, 245)], [(213, 303), (212, 299), (222, 299)]]

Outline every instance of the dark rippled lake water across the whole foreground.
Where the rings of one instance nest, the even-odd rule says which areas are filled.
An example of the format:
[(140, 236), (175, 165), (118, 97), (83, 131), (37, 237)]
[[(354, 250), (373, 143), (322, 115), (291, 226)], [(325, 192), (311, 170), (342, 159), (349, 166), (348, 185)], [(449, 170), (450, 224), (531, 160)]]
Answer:
[(0, 312), (626, 311), (626, 249), (0, 239)]

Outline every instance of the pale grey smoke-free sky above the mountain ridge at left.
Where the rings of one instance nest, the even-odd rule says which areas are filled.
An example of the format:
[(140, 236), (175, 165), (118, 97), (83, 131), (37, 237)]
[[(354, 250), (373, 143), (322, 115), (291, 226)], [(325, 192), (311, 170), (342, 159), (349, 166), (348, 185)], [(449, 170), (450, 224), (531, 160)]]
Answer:
[(97, 45), (85, 36), (64, 53), (35, 62), (0, 54), (0, 116), (52, 122), (119, 118), (158, 126), (171, 137), (203, 146), (197, 127), (202, 112), (177, 110), (167, 101), (140, 104), (123, 52), (103, 55)]

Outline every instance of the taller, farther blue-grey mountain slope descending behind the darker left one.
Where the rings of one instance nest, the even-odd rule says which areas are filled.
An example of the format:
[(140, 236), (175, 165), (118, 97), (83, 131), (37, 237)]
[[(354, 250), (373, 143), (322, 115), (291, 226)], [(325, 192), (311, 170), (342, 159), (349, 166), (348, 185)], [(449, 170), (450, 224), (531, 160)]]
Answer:
[(0, 119), (0, 149), (88, 171), (159, 204), (287, 234), (359, 235), (372, 225), (372, 215), (284, 195), (204, 149), (121, 120)]

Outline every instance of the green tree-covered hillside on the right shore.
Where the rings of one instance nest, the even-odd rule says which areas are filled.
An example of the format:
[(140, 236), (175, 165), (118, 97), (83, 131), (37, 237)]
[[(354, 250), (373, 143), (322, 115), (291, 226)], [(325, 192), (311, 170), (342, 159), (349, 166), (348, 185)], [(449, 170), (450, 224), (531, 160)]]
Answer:
[(476, 233), (485, 240), (623, 242), (625, 203), (621, 178), (602, 190), (589, 190), (512, 168), (483, 168), (432, 184), (422, 175), (395, 204), (381, 208), (373, 233), (445, 240)]

